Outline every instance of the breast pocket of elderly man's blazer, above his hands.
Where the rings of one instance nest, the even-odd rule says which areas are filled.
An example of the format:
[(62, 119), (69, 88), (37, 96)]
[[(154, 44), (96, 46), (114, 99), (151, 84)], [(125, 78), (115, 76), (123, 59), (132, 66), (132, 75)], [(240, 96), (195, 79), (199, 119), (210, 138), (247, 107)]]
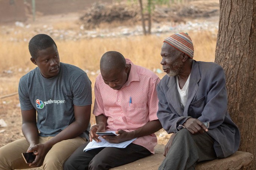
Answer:
[(201, 97), (199, 100), (192, 102), (188, 108), (188, 115), (194, 118), (200, 117), (204, 110), (204, 106), (206, 105), (205, 100), (206, 99), (204, 96)]

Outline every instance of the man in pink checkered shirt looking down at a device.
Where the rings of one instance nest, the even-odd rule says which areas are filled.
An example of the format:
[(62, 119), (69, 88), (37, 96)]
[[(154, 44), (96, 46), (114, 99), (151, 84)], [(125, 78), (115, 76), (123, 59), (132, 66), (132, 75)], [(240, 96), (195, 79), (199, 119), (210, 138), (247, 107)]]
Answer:
[(96, 132), (115, 131), (117, 136), (104, 135), (110, 143), (135, 139), (126, 148), (101, 147), (84, 152), (89, 143), (79, 147), (64, 164), (64, 170), (108, 170), (154, 154), (155, 132), (162, 128), (156, 113), (157, 75), (136, 66), (117, 51), (108, 51), (101, 58), (101, 74), (95, 81), (93, 114), (96, 125), (90, 129), (90, 141)]

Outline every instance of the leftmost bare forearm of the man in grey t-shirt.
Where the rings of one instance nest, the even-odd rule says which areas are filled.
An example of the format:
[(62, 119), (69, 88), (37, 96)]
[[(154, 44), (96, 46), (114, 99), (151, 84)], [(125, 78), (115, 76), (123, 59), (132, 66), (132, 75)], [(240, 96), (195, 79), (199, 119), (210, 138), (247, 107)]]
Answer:
[(36, 123), (22, 123), (22, 133), (31, 146), (38, 144), (39, 133)]

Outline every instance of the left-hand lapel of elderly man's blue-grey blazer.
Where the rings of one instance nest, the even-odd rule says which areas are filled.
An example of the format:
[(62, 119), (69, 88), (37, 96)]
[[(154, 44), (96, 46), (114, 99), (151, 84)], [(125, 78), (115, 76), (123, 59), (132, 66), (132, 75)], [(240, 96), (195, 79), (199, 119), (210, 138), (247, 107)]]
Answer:
[(170, 104), (180, 116), (183, 116), (183, 109), (181, 108), (181, 101), (179, 100), (179, 92), (175, 76), (170, 77), (167, 86), (169, 88), (167, 91), (167, 98), (170, 101)]

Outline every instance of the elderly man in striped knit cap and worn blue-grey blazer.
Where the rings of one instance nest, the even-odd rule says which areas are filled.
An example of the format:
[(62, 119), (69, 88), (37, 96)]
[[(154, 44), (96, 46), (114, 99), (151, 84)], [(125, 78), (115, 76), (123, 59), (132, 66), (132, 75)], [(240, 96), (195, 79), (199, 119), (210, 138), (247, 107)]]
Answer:
[(174, 134), (159, 170), (193, 170), (197, 162), (227, 157), (239, 147), (240, 132), (227, 111), (224, 70), (193, 60), (193, 54), (184, 32), (167, 37), (161, 48), (167, 75), (157, 85), (157, 117)]

